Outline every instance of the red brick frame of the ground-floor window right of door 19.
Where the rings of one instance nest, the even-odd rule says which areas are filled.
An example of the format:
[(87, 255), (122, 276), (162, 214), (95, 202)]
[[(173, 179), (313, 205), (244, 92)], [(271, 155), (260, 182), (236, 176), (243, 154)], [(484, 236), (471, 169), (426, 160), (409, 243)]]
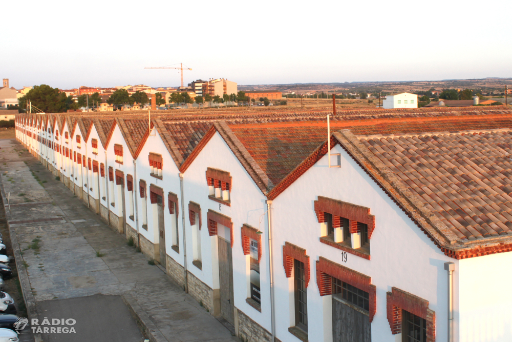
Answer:
[(436, 313), (429, 309), (429, 301), (412, 293), (391, 288), (386, 293), (388, 322), (393, 335), (402, 332), (402, 310), (406, 310), (426, 320), (426, 341), (436, 340)]

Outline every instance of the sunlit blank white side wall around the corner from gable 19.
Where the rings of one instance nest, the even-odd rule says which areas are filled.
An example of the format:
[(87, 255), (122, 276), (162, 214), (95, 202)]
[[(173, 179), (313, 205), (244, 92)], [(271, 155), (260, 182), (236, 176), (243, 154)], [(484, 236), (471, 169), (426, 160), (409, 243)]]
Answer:
[[(485, 255), (459, 261), (460, 341), (512, 340), (512, 253)], [(454, 273), (455, 274), (455, 273)]]

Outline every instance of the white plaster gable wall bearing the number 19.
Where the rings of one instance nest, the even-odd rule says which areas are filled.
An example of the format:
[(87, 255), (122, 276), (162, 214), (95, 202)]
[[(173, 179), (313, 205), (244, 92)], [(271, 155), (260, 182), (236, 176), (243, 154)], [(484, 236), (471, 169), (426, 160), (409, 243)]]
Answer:
[[(308, 326), (311, 342), (324, 340), (324, 305), (316, 285), (315, 261), (319, 256), (372, 277), (372, 284), (377, 287), (373, 339), (395, 341), (386, 315), (386, 292), (395, 286), (429, 300), (430, 309), (436, 312), (436, 339), (446, 340), (447, 274), (443, 264), (453, 261), (457, 269), (457, 260), (445, 256), (342, 148), (336, 146), (331, 151), (341, 153), (341, 168), (329, 169), (327, 156), (324, 156), (272, 204), (277, 337), (283, 342), (296, 342), (288, 332), (291, 318), (288, 308), (293, 296), (289, 295), (292, 290), (283, 268), (282, 246), (287, 241), (306, 249), (310, 256)], [(341, 250), (319, 242), (320, 225), (313, 207), (317, 196), (371, 209), (376, 224), (370, 240), (371, 260), (347, 254), (344, 263)], [(457, 281), (455, 288), (458, 289)], [(458, 310), (458, 303), (455, 308)]]

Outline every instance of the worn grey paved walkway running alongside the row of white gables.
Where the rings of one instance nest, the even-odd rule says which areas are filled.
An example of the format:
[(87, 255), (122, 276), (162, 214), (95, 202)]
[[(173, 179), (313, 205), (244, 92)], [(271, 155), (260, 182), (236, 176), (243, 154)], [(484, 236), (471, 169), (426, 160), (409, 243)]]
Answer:
[[(144, 255), (127, 246), (36, 158), (20, 153), (25, 150), (22, 145), (0, 140), (0, 147), (0, 173), (5, 192), (11, 194), (11, 228), (25, 250), (36, 303), (124, 295), (129, 303), (133, 297), (132, 309), (147, 315), (160, 340), (238, 341), (160, 268), (148, 265)], [(39, 248), (27, 249), (34, 239), (40, 240)]]

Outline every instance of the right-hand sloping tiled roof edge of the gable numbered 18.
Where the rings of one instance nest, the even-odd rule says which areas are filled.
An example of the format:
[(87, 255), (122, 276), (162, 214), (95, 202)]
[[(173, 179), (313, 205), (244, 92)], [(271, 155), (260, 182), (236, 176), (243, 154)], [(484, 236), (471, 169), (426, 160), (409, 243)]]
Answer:
[(249, 151), (234, 135), (225, 121), (214, 123), (214, 127), (222, 136), (234, 155), (240, 160), (240, 163), (254, 180), (254, 183), (260, 188), (265, 196), (274, 188), (274, 185), (267, 174), (256, 163), (256, 160), (250, 155)]

